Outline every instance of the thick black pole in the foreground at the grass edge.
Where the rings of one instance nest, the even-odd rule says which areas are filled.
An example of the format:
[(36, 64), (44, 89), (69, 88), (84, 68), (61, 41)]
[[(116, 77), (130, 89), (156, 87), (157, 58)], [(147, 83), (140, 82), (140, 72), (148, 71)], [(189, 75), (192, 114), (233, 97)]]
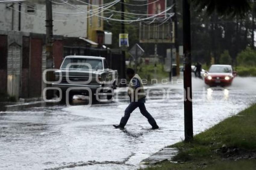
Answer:
[(184, 127), (185, 141), (193, 139), (192, 81), (191, 81), (191, 29), (189, 0), (183, 0), (183, 52), (184, 52)]

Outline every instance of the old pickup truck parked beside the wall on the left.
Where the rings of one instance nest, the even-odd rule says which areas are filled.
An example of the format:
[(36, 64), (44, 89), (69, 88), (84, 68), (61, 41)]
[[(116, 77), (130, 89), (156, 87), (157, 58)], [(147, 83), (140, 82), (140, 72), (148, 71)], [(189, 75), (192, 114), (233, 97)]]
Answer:
[(62, 102), (66, 101), (67, 91), (69, 102), (73, 95), (91, 96), (92, 102), (95, 102), (97, 89), (103, 95), (107, 93), (108, 99), (114, 96), (110, 88), (117, 87), (118, 73), (117, 70), (108, 68), (104, 57), (66, 56), (61, 68), (55, 71), (55, 79), (58, 82), (52, 83), (52, 87), (61, 89)]

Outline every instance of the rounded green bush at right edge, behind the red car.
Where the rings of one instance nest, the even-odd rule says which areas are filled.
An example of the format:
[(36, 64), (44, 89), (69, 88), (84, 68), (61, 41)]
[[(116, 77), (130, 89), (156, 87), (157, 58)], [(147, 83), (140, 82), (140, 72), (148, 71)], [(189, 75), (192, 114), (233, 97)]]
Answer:
[(246, 47), (245, 50), (237, 55), (237, 64), (256, 67), (256, 50)]

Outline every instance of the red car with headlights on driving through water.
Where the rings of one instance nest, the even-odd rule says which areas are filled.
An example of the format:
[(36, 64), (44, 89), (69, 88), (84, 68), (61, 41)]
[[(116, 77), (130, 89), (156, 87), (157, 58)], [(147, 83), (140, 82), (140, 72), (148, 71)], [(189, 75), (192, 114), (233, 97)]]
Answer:
[(205, 74), (204, 83), (209, 86), (230, 86), (235, 76), (231, 65), (211, 65)]

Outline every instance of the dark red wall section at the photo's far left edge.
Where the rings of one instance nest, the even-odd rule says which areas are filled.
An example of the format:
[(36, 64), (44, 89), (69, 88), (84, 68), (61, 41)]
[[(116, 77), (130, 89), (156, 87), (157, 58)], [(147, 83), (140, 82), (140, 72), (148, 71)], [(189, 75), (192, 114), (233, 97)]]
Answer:
[(0, 93), (7, 93), (7, 35), (0, 35)]

